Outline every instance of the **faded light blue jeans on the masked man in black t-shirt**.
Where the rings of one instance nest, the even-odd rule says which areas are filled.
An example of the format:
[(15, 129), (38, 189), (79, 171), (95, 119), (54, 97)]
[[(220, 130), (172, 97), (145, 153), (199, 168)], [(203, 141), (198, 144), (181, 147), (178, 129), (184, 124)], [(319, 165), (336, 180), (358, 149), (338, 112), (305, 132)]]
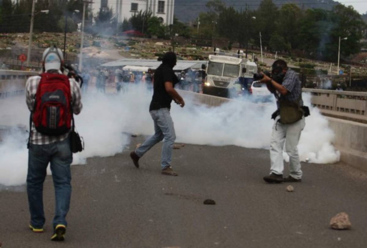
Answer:
[(150, 115), (154, 122), (155, 134), (149, 137), (138, 149), (136, 149), (135, 153), (139, 157), (142, 157), (150, 148), (164, 138), (161, 158), (161, 167), (164, 169), (166, 166), (171, 165), (172, 147), (176, 140), (175, 128), (168, 108), (152, 110), (150, 111)]

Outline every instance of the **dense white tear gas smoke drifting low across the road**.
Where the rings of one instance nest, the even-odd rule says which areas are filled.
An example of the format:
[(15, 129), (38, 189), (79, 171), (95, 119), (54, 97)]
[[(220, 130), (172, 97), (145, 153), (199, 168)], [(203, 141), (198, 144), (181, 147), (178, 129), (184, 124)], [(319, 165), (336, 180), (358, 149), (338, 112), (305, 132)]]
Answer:
[[(83, 110), (75, 116), (78, 132), (84, 138), (85, 150), (74, 154), (73, 164), (83, 164), (93, 156), (113, 156), (130, 143), (128, 133), (153, 133), (149, 115), (152, 93), (144, 84), (128, 85), (125, 92), (106, 94), (92, 92), (82, 97)], [(25, 183), (28, 151), (29, 111), (24, 96), (0, 99), (0, 126), (20, 126), (0, 133), (0, 184)], [(310, 96), (304, 94), (310, 106)], [(268, 148), (275, 104), (251, 104), (233, 100), (219, 107), (197, 105), (185, 97), (186, 106), (172, 103), (177, 142), (206, 145), (237, 145), (248, 148)], [(333, 131), (327, 119), (316, 108), (310, 108), (306, 127), (298, 145), (301, 160), (312, 163), (334, 163), (340, 153), (331, 142)], [(287, 156), (284, 156), (287, 159)], [(245, 163), (246, 164), (246, 163)]]

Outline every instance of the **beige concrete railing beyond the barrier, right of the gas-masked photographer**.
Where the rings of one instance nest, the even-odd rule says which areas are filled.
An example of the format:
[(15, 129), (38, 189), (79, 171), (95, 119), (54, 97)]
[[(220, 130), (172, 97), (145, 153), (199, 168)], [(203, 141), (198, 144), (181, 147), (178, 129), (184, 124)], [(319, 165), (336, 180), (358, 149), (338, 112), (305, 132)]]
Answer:
[(303, 89), (312, 95), (311, 104), (325, 110), (367, 115), (367, 92)]

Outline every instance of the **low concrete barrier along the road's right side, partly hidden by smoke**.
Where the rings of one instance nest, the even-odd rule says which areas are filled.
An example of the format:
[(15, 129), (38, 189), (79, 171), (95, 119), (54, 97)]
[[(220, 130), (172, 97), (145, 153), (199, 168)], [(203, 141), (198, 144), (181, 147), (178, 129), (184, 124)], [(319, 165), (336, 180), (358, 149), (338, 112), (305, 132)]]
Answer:
[[(216, 96), (203, 95), (178, 90), (181, 96), (190, 97), (198, 104), (220, 106), (229, 101), (238, 101)], [(242, 104), (243, 101), (239, 101)], [(252, 103), (246, 103), (252, 104)], [(254, 104), (258, 106), (258, 104)], [(330, 128), (335, 133), (334, 145), (341, 152), (341, 161), (350, 166), (367, 171), (367, 124), (326, 117)]]

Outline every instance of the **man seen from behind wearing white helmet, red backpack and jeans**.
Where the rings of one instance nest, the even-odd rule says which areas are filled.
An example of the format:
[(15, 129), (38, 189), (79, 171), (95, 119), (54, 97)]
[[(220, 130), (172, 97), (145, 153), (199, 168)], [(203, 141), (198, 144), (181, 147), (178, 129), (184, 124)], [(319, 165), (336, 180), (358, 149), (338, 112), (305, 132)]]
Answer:
[(43, 232), (43, 182), (50, 163), (56, 201), (51, 240), (62, 241), (71, 197), (73, 155), (69, 133), (73, 114), (80, 113), (82, 104), (79, 85), (61, 72), (64, 63), (61, 50), (47, 48), (42, 60), (43, 73), (26, 82), (26, 103), (31, 112), (27, 174), (29, 228), (36, 233)]

